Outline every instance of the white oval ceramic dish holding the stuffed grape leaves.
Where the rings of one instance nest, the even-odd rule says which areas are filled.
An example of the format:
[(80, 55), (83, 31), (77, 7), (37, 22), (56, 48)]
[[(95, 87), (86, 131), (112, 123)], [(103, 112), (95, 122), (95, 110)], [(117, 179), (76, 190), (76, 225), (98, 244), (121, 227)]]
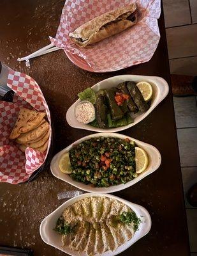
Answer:
[(108, 89), (117, 86), (117, 84), (122, 83), (124, 81), (135, 81), (136, 83), (140, 81), (147, 81), (152, 85), (153, 95), (151, 100), (151, 106), (150, 108), (142, 114), (136, 114), (134, 115), (134, 122), (132, 124), (117, 127), (117, 128), (108, 128), (108, 129), (101, 129), (98, 127), (93, 127), (89, 124), (81, 124), (77, 121), (75, 118), (75, 106), (80, 102), (80, 99), (78, 99), (67, 111), (66, 113), (66, 120), (68, 124), (71, 127), (78, 128), (78, 129), (84, 129), (94, 132), (118, 132), (125, 129), (128, 129), (129, 127), (132, 127), (133, 125), (138, 124), (138, 122), (142, 121), (147, 115), (149, 115), (154, 108), (168, 95), (169, 87), (168, 83), (161, 77), (157, 76), (138, 76), (138, 75), (122, 75), (122, 76), (113, 76), (108, 79), (105, 79), (97, 84), (94, 84), (92, 86), (92, 89), (95, 90), (95, 92), (98, 92), (98, 90), (101, 89)]

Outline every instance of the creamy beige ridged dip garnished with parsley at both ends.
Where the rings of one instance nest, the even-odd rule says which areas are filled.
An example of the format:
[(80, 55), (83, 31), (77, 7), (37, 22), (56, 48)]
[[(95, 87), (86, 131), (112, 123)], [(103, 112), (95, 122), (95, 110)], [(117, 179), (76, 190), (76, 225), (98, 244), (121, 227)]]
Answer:
[(69, 205), (55, 231), (63, 246), (87, 255), (115, 251), (138, 230), (140, 218), (126, 204), (106, 196), (90, 196)]

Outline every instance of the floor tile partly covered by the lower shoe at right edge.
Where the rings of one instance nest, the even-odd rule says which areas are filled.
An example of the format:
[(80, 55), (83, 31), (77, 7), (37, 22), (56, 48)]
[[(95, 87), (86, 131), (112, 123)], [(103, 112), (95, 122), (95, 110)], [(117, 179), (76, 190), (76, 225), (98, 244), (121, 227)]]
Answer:
[(191, 186), (193, 186), (197, 182), (197, 167), (182, 167), (182, 182), (184, 186), (184, 196), (185, 196), (185, 204), (186, 208), (193, 208), (188, 202), (186, 198), (186, 193)]

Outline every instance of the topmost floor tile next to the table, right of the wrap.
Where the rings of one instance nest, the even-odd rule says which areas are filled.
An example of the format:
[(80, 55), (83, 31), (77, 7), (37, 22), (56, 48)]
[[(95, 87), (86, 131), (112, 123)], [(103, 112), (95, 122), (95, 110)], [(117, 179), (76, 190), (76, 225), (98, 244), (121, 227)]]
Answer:
[(188, 0), (163, 0), (165, 26), (191, 24)]

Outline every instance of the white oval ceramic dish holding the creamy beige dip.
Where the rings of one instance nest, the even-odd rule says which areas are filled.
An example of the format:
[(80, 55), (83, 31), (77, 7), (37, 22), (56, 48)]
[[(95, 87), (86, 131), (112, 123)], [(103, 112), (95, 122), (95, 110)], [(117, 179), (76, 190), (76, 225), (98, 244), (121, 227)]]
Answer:
[[(68, 253), (69, 255), (73, 256), (78, 256), (78, 252), (69, 250), (69, 248), (62, 247), (62, 241), (61, 241), (61, 236), (57, 234), (54, 231), (57, 219), (61, 216), (62, 212), (66, 207), (69, 205), (74, 204), (78, 200), (81, 200), (85, 197), (89, 196), (106, 196), (108, 198), (114, 198), (116, 200), (119, 200), (123, 204), (128, 205), (135, 211), (136, 215), (138, 218), (142, 220), (142, 222), (139, 225), (138, 230), (135, 232), (135, 235), (126, 243), (122, 244), (115, 250), (114, 252), (105, 252), (102, 255), (103, 256), (112, 256), (112, 255), (117, 255), (124, 250), (128, 249), (132, 244), (134, 244), (136, 241), (138, 241), (140, 238), (145, 236), (147, 233), (149, 233), (150, 227), (151, 227), (151, 219), (150, 219), (150, 214), (149, 212), (143, 208), (140, 205), (133, 204), (127, 200), (124, 200), (122, 198), (119, 198), (117, 196), (109, 195), (109, 194), (94, 194), (94, 193), (86, 193), (84, 195), (80, 196), (75, 196), (74, 198), (69, 199), (67, 202), (59, 206), (54, 212), (50, 213), (43, 221), (41, 221), (40, 225), (40, 236), (43, 241), (51, 246), (54, 246), (55, 248), (61, 250), (62, 252)], [(80, 253), (80, 256), (85, 256), (85, 253)], [(97, 254), (98, 255), (98, 254)]]

